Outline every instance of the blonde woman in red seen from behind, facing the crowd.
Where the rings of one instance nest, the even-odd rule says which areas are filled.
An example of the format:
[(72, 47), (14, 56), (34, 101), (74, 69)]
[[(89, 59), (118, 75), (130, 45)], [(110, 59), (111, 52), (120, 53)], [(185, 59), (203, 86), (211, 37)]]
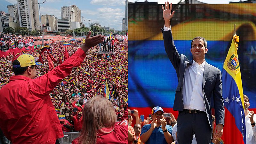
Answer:
[(81, 135), (72, 144), (127, 144), (128, 109), (121, 122), (116, 122), (116, 112), (112, 103), (97, 95), (89, 99), (83, 110)]

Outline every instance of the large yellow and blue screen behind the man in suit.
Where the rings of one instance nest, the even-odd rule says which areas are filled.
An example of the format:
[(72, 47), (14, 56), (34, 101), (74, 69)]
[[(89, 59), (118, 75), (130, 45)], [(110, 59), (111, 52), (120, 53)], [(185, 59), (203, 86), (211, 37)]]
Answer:
[[(175, 4), (172, 11), (176, 12), (171, 19), (174, 44), (179, 54), (192, 60), (191, 40), (202, 36), (208, 43), (206, 62), (221, 72), (236, 24), (236, 34), (240, 36), (237, 52), (243, 91), (250, 99), (250, 108), (256, 108), (255, 7), (256, 4), (237, 3)], [(160, 106), (172, 110), (178, 79), (164, 50), (161, 5), (129, 3), (128, 17), (129, 107), (149, 110)]]

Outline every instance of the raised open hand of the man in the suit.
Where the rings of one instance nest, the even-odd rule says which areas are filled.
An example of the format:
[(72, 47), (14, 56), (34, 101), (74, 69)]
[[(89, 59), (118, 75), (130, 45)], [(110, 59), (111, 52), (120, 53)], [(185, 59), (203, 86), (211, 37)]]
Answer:
[[(171, 6), (170, 6), (171, 5)], [(169, 5), (169, 2), (165, 2), (165, 9), (164, 6), (162, 5), (162, 9), (163, 9), (163, 16), (164, 16), (164, 25), (165, 27), (170, 26), (170, 19), (173, 17), (175, 11), (172, 12), (172, 3)]]

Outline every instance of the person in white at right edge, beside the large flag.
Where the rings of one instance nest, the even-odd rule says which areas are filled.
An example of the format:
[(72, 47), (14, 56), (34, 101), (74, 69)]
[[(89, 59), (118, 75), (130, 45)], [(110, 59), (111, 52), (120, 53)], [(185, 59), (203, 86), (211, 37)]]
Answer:
[(256, 116), (254, 111), (249, 111), (250, 101), (247, 95), (244, 94), (244, 114), (245, 114), (245, 126), (246, 126), (246, 144), (256, 143)]

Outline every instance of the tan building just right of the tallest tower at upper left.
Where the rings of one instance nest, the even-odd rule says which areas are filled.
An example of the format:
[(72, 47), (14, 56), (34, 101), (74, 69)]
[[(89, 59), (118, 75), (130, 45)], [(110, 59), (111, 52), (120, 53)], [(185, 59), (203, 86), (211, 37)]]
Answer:
[(51, 29), (51, 31), (56, 31), (56, 23), (55, 23), (55, 16), (54, 15), (41, 15), (41, 23), (44, 26), (49, 26), (51, 28), (47, 28), (47, 31)]

